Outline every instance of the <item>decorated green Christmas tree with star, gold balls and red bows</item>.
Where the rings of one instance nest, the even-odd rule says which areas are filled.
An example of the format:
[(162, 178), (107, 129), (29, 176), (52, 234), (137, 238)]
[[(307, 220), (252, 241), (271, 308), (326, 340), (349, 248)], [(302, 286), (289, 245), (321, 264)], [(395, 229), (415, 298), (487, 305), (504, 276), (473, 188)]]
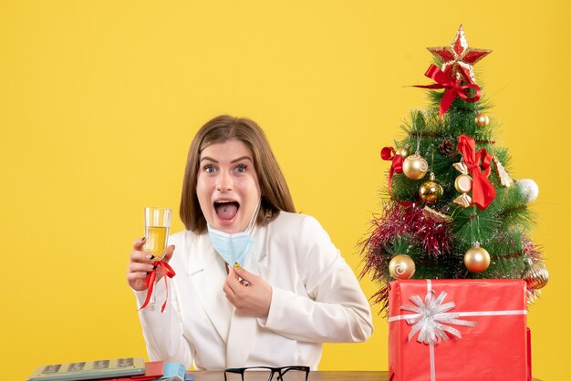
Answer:
[(468, 46), (462, 26), (452, 45), (429, 47), (431, 106), (403, 123), (404, 138), (381, 150), (390, 161), (387, 199), (360, 244), (364, 268), (380, 284), (372, 296), (387, 311), (395, 279), (524, 279), (528, 303), (548, 280), (530, 238), (533, 180), (509, 175), (508, 149), (473, 65), (491, 50)]

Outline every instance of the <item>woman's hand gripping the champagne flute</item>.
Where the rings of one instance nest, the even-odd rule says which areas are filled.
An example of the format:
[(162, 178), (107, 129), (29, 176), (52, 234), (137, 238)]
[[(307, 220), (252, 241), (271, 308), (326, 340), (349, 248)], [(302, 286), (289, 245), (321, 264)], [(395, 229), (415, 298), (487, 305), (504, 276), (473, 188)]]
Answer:
[[(127, 283), (130, 288), (135, 291), (146, 290), (145, 278), (147, 274), (154, 270), (155, 266), (152, 265), (151, 254), (145, 252), (143, 246), (145, 245), (145, 237), (133, 242), (133, 251), (130, 252), (129, 269), (127, 270)], [(167, 252), (162, 258), (163, 262), (169, 263), (174, 252), (174, 245), (167, 248)], [(157, 281), (161, 279), (161, 268), (157, 270)]]

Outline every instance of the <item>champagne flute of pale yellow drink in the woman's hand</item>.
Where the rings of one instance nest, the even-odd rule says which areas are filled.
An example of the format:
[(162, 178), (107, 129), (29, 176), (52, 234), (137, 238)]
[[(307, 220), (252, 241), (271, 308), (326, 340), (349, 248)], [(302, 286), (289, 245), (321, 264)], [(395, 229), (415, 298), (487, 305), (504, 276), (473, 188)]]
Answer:
[[(169, 208), (145, 208), (145, 242), (144, 250), (151, 254), (151, 261), (161, 261), (167, 252), (167, 238), (171, 230), (171, 214)], [(157, 280), (153, 288), (156, 289)], [(155, 293), (151, 295), (151, 311), (155, 310)]]

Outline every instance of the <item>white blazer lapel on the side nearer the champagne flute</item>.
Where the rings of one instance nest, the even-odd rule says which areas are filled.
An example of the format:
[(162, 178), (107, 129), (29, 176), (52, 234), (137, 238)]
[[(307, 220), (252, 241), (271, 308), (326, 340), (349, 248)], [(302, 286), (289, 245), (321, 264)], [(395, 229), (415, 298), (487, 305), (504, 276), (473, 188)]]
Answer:
[(206, 234), (197, 236), (192, 243), (187, 276), (192, 279), (202, 308), (226, 342), (234, 306), (228, 302), (222, 289), (226, 279), (225, 263), (214, 251)]

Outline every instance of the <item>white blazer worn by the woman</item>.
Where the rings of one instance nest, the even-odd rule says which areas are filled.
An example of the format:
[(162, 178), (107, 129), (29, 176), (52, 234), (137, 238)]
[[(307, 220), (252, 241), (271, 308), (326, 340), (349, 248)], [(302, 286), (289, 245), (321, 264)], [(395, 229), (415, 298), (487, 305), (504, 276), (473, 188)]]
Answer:
[[(324, 342), (362, 342), (373, 330), (367, 298), (327, 232), (312, 217), (280, 212), (253, 232), (244, 269), (272, 286), (267, 318), (234, 312), (223, 293), (225, 263), (207, 233), (178, 232), (168, 297), (157, 285), (157, 311), (140, 311), (151, 360), (197, 369), (311, 366)], [(146, 291), (137, 292), (138, 305)], [(167, 300), (161, 314), (160, 307)]]

